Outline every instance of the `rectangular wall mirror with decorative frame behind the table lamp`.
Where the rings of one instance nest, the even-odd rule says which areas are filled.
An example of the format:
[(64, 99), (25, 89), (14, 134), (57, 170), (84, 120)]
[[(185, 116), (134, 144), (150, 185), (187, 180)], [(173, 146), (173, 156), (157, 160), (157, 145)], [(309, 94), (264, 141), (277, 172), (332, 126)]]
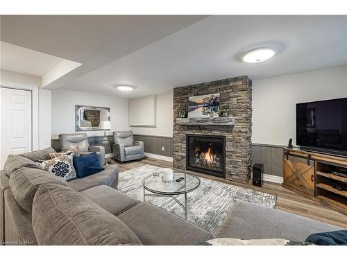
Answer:
[(76, 132), (102, 130), (99, 127), (101, 121), (111, 121), (110, 107), (75, 105)]

